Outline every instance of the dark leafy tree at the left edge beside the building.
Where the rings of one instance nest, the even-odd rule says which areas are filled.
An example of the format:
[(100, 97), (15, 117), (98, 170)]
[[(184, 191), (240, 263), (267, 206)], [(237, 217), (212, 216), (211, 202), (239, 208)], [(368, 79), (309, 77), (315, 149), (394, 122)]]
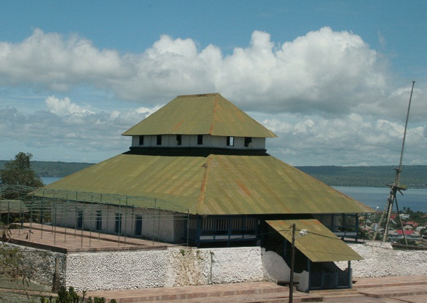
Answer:
[(32, 154), (20, 152), (15, 160), (4, 164), (0, 170), (0, 185), (25, 185), (27, 187), (43, 187), (41, 178), (31, 168)]

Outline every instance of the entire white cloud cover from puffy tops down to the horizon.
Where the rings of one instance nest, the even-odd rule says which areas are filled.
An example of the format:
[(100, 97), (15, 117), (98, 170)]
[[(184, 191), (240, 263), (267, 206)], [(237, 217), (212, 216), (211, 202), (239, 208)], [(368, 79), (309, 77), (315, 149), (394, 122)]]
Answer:
[[(35, 29), (20, 43), (0, 41), (0, 66), (0, 86), (30, 83), (49, 96), (28, 97), (45, 100), (39, 111), (0, 108), (0, 140), (30, 150), (60, 147), (64, 157), (86, 161), (88, 154), (125, 152), (130, 141), (120, 134), (176, 95), (218, 92), (262, 116), (258, 121), (279, 136), (268, 140), (270, 153), (291, 164), (394, 164), (410, 93), (409, 83), (391, 82), (386, 59), (360, 36), (329, 27), (282, 44), (255, 31), (249, 46), (228, 55), (218, 46), (199, 49), (192, 39), (166, 35), (143, 53), (122, 54), (77, 35)], [(76, 88), (107, 91), (100, 95), (132, 100), (136, 109), (117, 104), (99, 111), (84, 95), (79, 102), (54, 95)], [(423, 85), (414, 90), (407, 163), (426, 163), (425, 92)]]

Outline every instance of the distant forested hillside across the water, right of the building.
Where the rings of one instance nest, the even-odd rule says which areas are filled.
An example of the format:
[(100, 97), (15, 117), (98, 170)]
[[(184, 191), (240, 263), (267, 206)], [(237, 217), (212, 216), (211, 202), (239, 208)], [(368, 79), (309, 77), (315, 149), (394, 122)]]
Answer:
[[(297, 166), (331, 186), (384, 187), (395, 180), (395, 166)], [(402, 166), (400, 183), (407, 188), (427, 188), (427, 166)]]

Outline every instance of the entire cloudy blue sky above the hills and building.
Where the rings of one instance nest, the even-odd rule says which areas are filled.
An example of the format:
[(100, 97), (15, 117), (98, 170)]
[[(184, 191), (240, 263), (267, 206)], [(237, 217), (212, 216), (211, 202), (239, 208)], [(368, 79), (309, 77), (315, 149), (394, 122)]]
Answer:
[(426, 1), (1, 1), (0, 159), (99, 162), (221, 93), (292, 165), (427, 164)]

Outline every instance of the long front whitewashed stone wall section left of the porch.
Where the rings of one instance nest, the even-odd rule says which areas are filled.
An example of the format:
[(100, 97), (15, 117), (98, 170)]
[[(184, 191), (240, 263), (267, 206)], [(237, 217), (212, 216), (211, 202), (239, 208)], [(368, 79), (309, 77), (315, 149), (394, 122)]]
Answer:
[(77, 290), (155, 288), (264, 279), (261, 248), (256, 247), (76, 253), (67, 255), (66, 268), (65, 284)]

